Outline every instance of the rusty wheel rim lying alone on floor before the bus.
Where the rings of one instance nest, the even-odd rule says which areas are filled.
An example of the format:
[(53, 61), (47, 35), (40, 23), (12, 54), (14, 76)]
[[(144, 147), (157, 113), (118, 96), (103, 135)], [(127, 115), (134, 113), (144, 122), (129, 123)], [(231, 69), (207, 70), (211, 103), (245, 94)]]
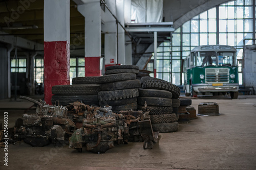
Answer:
[(219, 116), (219, 105), (215, 102), (204, 102), (198, 104), (199, 116)]

